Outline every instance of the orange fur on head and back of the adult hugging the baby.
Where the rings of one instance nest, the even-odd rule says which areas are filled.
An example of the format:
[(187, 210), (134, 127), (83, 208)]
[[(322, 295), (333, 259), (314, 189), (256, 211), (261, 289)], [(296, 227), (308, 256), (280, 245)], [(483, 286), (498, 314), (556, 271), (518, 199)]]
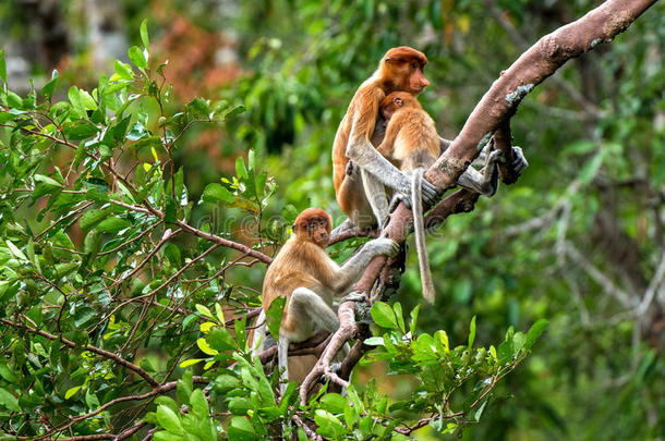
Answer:
[(349, 103), (332, 146), (332, 183), (337, 201), (347, 216), (351, 217), (354, 211), (372, 215), (362, 182), (344, 173), (349, 139), (363, 137), (372, 142), (380, 101), (396, 90), (420, 94), (430, 84), (423, 74), (425, 64), (425, 54), (410, 47), (388, 50), (376, 72), (359, 87)]

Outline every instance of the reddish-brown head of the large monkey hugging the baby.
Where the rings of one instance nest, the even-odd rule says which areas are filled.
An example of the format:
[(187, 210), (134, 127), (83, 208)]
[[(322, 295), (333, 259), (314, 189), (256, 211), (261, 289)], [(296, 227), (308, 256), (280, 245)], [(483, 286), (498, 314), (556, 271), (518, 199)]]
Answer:
[(423, 52), (400, 46), (386, 52), (378, 70), (387, 88), (418, 95), (430, 85), (423, 73), (425, 64), (427, 57)]

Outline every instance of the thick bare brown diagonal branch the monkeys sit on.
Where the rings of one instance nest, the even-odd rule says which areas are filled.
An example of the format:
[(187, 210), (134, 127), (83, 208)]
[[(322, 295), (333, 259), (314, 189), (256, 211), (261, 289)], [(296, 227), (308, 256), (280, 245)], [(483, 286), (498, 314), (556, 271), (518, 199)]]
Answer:
[[(516, 113), (521, 100), (533, 88), (551, 76), (568, 60), (581, 56), (601, 42), (608, 42), (640, 16), (656, 0), (608, 0), (578, 21), (563, 26), (541, 38), (493, 83), (467, 120), (459, 135), (426, 171), (427, 181), (444, 192), (456, 185), (458, 177), (479, 156), (488, 135), (496, 135), (495, 144), (505, 152), (510, 149), (510, 128), (508, 121)], [(512, 152), (507, 156), (510, 163)], [(510, 170), (504, 168), (501, 177), (513, 182)], [(471, 211), (477, 195), (466, 189), (446, 198), (427, 216), (427, 225), (442, 222), (454, 212)], [(440, 207), (440, 208), (439, 208)], [(411, 230), (411, 210), (400, 204), (390, 215), (390, 221), (383, 235), (402, 243)], [(376, 257), (355, 284), (354, 291), (368, 293), (379, 277), (386, 262), (384, 256)], [(323, 373), (329, 380), (343, 383), (330, 372), (329, 364), (339, 348), (358, 333), (355, 322), (355, 302), (342, 303), (338, 309), (340, 328), (332, 335), (330, 344), (321, 359), (303, 381), (301, 403), (305, 404), (309, 392), (316, 379)], [(349, 367), (347, 367), (348, 369)]]

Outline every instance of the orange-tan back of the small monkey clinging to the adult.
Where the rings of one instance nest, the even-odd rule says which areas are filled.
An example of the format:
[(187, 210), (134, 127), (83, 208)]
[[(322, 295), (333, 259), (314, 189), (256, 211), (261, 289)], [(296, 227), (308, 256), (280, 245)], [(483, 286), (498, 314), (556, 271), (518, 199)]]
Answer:
[(392, 148), (392, 158), (401, 171), (428, 168), (439, 156), (439, 138), (434, 120), (423, 109), (403, 108), (395, 112), (388, 124), (399, 128)]

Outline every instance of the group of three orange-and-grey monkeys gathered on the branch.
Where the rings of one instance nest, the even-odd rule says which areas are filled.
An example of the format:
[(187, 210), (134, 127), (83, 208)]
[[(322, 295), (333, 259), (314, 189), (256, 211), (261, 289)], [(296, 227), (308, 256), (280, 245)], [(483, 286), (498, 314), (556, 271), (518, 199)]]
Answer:
[[(352, 228), (380, 229), (397, 204), (403, 201), (410, 206), (423, 295), (434, 302), (422, 211), (423, 205), (434, 205), (438, 194), (423, 177), (423, 172), (449, 142), (438, 136), (434, 121), (416, 98), (430, 85), (423, 73), (425, 64), (424, 53), (406, 46), (392, 48), (351, 99), (332, 146), (335, 193), (348, 217), (334, 233)], [(458, 184), (483, 195), (494, 195), (500, 157), (498, 150), (487, 152), (483, 172), (470, 167)], [(518, 147), (513, 147), (513, 157), (516, 170), (527, 167)], [(294, 373), (289, 375), (289, 368), (294, 367), (294, 360), (287, 356), (289, 343), (303, 342), (321, 330), (335, 332), (339, 321), (332, 302), (349, 294), (374, 257), (392, 257), (399, 252), (399, 245), (390, 238), (375, 238), (340, 267), (326, 253), (331, 229), (332, 221), (326, 211), (318, 208), (302, 211), (295, 219), (292, 237), (279, 250), (264, 279), (263, 311), (257, 320), (263, 324), (256, 329), (254, 351), (263, 350), (268, 307), (275, 298), (286, 297), (277, 336), (277, 363), (285, 380), (301, 380)], [(346, 351), (342, 348), (342, 356)], [(311, 359), (301, 363), (313, 366)], [(307, 371), (302, 367), (300, 370)], [(286, 388), (283, 381), (281, 387)]]

